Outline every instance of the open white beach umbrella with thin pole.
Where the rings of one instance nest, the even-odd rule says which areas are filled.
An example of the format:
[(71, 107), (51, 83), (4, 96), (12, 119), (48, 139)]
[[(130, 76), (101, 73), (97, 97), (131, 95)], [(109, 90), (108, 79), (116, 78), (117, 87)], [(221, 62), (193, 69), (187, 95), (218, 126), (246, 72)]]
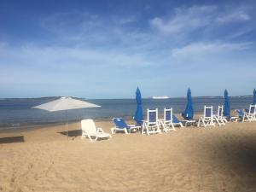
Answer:
[[(83, 102), (78, 99), (73, 99), (71, 97), (61, 97), (56, 99), (52, 102), (46, 102), (44, 104), (32, 107), (38, 109), (44, 109), (49, 112), (55, 111), (67, 111), (69, 109), (76, 109), (76, 108), (100, 108), (101, 106), (90, 103), (90, 102)], [(67, 125), (66, 125), (67, 127)], [(67, 132), (68, 137), (68, 132)]]

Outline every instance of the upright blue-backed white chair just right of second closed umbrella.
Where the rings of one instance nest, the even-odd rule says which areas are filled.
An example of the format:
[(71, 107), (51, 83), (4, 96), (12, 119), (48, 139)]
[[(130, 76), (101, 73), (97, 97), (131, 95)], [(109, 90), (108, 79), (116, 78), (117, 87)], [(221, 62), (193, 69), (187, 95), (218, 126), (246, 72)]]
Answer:
[(205, 128), (207, 126), (215, 126), (214, 118), (212, 114), (212, 106), (211, 107), (204, 107), (204, 116), (202, 116), (197, 123), (197, 126), (204, 126)]

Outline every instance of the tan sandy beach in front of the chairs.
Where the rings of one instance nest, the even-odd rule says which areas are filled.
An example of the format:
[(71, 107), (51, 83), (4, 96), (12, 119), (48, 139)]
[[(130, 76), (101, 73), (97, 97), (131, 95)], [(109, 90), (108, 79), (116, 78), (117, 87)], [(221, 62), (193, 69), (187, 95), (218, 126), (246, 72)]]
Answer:
[(256, 191), (256, 122), (96, 143), (69, 129), (0, 131), (0, 191)]

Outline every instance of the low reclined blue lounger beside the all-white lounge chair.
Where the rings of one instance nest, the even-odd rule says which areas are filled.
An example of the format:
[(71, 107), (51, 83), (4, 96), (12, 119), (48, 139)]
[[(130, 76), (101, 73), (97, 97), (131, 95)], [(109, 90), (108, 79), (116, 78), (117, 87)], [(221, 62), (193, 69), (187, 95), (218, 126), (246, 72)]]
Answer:
[(115, 124), (115, 127), (111, 128), (112, 134), (116, 131), (124, 131), (125, 134), (130, 134), (131, 131), (137, 131), (141, 128), (141, 126), (137, 125), (127, 125), (123, 118), (113, 118), (113, 123)]

